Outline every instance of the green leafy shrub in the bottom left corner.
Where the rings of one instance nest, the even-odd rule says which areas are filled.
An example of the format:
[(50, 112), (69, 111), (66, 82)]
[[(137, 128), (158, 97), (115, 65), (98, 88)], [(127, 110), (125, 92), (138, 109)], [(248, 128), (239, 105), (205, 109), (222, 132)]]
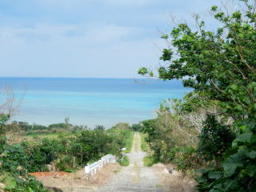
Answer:
[(28, 176), (27, 166), (30, 166), (26, 147), (22, 144), (8, 145), (5, 140), (5, 123), (9, 115), (0, 115), (0, 182), (6, 184), (5, 191), (11, 192), (46, 192), (41, 182)]

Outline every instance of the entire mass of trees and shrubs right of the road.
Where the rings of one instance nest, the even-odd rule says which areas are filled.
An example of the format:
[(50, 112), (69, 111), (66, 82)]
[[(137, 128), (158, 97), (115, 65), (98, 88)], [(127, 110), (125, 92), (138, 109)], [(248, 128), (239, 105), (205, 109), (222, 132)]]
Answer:
[(198, 191), (256, 189), (256, 13), (255, 2), (237, 1), (236, 10), (212, 6), (218, 20), (206, 30), (179, 23), (162, 34), (168, 46), (158, 72), (139, 74), (182, 79), (193, 89), (182, 100), (163, 102), (158, 118), (142, 122), (153, 157), (173, 163), (197, 179)]

